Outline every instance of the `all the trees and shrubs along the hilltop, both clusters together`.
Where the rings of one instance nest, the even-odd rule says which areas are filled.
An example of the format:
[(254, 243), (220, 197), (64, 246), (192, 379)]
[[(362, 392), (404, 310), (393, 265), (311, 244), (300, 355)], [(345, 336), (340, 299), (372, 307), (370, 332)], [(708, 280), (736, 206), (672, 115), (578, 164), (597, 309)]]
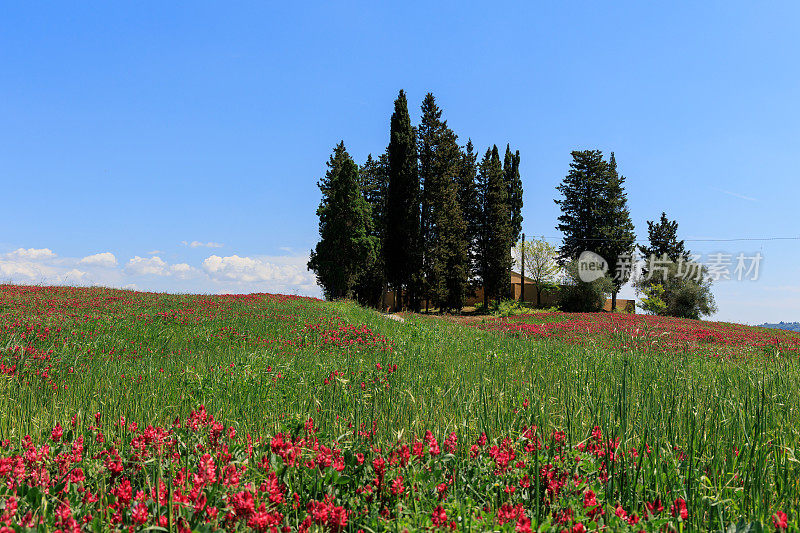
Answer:
[[(617, 293), (634, 274), (637, 246), (614, 153), (571, 152), (569, 172), (556, 188), (561, 246), (542, 238), (523, 247), (519, 151), (506, 145), (501, 157), (494, 145), (479, 160), (472, 141), (459, 145), (442, 114), (428, 93), (414, 126), (401, 90), (383, 153), (370, 154), (359, 167), (344, 142), (334, 148), (318, 183), (320, 241), (308, 262), (325, 297), (380, 307), (391, 290), (396, 308), (448, 312), (460, 311), (482, 287), (488, 308), (490, 301), (512, 296), (511, 269), (524, 251), (537, 306), (543, 290), (557, 289), (564, 310), (600, 310), (607, 295), (616, 309)], [(662, 213), (647, 224), (649, 244), (638, 251), (666, 263), (660, 277), (650, 275), (645, 263), (644, 275), (634, 281), (642, 307), (688, 318), (715, 312), (710, 279), (689, 261), (677, 222)], [(600, 279), (581, 279), (577, 261), (585, 251), (606, 261)], [(697, 275), (684, 275), (687, 268)]]

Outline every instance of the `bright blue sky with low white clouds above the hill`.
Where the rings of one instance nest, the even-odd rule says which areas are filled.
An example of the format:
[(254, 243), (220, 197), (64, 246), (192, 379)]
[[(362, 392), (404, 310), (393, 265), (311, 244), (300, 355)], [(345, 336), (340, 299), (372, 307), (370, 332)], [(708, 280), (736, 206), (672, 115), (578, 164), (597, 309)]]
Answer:
[(6, 4), (0, 278), (317, 295), (316, 181), (403, 88), (520, 150), (528, 235), (559, 237), (569, 152), (613, 150), (641, 239), (666, 211), (763, 255), (715, 318), (800, 320), (800, 241), (692, 241), (800, 235), (800, 4), (287, 4)]

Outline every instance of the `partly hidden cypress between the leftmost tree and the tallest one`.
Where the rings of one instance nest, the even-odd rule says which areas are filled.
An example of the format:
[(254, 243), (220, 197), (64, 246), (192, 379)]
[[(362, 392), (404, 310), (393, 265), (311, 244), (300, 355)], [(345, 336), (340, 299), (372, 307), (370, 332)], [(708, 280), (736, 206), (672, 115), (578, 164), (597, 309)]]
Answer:
[(361, 192), (372, 209), (372, 235), (376, 241), (375, 261), (367, 265), (356, 283), (356, 296), (363, 305), (379, 307), (386, 290), (386, 265), (383, 245), (386, 237), (386, 196), (389, 185), (387, 156), (374, 159), (372, 154), (359, 169)]

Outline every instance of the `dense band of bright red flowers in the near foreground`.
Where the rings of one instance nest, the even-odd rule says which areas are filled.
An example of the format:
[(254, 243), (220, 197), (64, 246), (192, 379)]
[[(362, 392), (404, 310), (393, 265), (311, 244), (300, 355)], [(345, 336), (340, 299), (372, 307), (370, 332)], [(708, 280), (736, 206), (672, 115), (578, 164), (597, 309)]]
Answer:
[(76, 415), (40, 445), (3, 443), (0, 522), (61, 531), (531, 531), (533, 523), (581, 532), (657, 531), (688, 518), (681, 497), (654, 492), (642, 506), (603, 498), (612, 476), (635, 474), (652, 451), (626, 458), (599, 428), (574, 449), (563, 433), (541, 438), (535, 427), (495, 444), (483, 434), (465, 445), (454, 432), (383, 446), (328, 440), (313, 419), (272, 438), (241, 436), (202, 406), (166, 428)]

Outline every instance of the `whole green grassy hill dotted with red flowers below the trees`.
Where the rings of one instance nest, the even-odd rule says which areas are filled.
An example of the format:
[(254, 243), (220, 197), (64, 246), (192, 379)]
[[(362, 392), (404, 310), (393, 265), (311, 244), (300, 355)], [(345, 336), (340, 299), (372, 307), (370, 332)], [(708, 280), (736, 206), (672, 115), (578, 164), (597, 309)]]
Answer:
[(405, 318), (0, 286), (0, 524), (797, 527), (800, 336)]

